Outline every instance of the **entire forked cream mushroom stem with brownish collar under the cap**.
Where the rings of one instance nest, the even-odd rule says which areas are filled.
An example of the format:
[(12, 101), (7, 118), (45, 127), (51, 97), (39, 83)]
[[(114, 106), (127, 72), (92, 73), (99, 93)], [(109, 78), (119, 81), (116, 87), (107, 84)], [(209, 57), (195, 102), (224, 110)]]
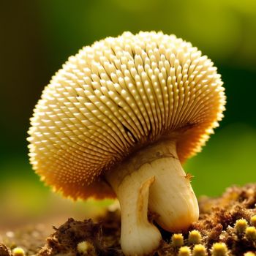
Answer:
[(105, 174), (121, 206), (121, 247), (125, 255), (147, 255), (161, 235), (148, 222), (148, 209), (165, 230), (186, 230), (197, 221), (197, 199), (176, 154), (176, 143), (159, 141), (135, 152)]

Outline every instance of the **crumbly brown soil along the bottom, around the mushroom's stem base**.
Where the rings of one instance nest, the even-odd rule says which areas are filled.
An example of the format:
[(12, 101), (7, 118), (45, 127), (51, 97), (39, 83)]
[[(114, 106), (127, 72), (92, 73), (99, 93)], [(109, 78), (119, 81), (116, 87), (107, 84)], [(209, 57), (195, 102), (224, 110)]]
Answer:
[[(234, 228), (237, 219), (243, 218), (249, 223), (250, 218), (256, 214), (256, 184), (230, 187), (218, 198), (202, 197), (199, 205), (200, 219), (189, 230), (200, 231), (201, 244), (206, 247), (209, 255), (212, 244), (218, 241), (227, 245), (230, 256), (256, 252), (256, 239), (246, 238), (244, 234), (238, 235)], [(60, 227), (53, 227), (53, 233), (48, 237), (45, 233), (47, 229), (43, 226), (20, 230), (12, 233), (12, 236), (7, 233), (2, 237), (5, 245), (0, 241), (0, 256), (10, 256), (10, 248), (15, 246), (23, 247), (27, 255), (38, 256), (123, 255), (119, 243), (120, 227), (120, 212), (108, 211), (97, 223), (91, 219), (83, 222), (68, 219)], [(184, 245), (188, 245), (189, 230), (183, 233)], [(173, 234), (164, 230), (161, 232), (162, 244), (154, 255), (178, 255), (178, 248), (170, 243)], [(87, 254), (86, 250), (79, 252), (78, 244), (82, 241), (89, 242), (94, 249), (88, 250)]]

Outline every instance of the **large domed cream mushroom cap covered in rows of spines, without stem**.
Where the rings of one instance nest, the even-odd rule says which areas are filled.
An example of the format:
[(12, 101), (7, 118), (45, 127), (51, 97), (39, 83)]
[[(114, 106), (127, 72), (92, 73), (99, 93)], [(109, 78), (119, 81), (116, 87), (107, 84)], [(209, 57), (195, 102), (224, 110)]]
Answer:
[(124, 32), (69, 57), (42, 92), (29, 157), (64, 196), (114, 197), (102, 174), (160, 138), (181, 162), (200, 151), (225, 109), (217, 68), (190, 42)]

